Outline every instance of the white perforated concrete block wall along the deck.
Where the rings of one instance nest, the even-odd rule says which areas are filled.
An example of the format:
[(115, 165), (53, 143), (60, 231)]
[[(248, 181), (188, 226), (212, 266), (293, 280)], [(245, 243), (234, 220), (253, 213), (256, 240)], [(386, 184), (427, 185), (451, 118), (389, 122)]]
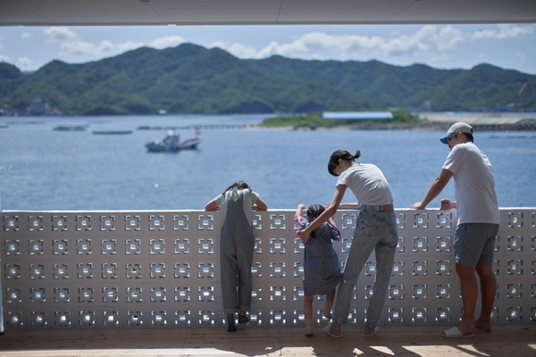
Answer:
[[(220, 212), (1, 212), (4, 330), (222, 328)], [(256, 212), (250, 326), (302, 327), (304, 247), (294, 211)], [(339, 211), (344, 266), (356, 211)], [(463, 306), (452, 239), (456, 211), (397, 210), (398, 252), (381, 326), (453, 325)], [(536, 209), (501, 209), (493, 321), (536, 321)], [(364, 324), (371, 255), (349, 323)], [(323, 297), (314, 320), (324, 324)]]

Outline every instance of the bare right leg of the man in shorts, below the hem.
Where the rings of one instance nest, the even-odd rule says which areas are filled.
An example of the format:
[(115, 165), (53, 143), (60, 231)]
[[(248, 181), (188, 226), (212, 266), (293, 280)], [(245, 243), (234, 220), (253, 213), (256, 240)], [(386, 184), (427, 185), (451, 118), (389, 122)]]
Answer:
[(497, 280), (490, 264), (477, 264), (476, 272), (481, 282), (482, 310), (474, 327), (485, 332), (491, 331), (491, 311), (497, 293)]

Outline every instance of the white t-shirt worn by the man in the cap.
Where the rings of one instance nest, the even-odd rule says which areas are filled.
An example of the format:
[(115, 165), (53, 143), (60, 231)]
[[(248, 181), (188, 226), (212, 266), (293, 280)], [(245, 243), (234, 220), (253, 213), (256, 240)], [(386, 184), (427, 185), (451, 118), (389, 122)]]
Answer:
[(500, 223), (493, 167), (476, 145), (454, 146), (443, 169), (454, 173), (457, 224)]

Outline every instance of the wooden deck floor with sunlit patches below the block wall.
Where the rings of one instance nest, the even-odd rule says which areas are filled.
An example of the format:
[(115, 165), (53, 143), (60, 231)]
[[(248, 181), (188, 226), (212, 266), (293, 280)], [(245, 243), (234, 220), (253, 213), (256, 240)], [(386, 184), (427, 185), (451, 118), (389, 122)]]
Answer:
[(364, 338), (345, 328), (342, 338), (301, 328), (7, 331), (0, 356), (536, 356), (536, 324), (494, 327), (471, 338), (444, 338), (444, 327), (381, 328)]

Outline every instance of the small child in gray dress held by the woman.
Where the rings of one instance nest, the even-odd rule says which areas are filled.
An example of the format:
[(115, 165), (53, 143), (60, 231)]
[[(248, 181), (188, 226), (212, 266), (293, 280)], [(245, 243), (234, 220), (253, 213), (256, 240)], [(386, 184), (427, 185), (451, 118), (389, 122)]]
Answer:
[[(304, 203), (297, 205), (294, 219), (297, 220), (296, 237), (299, 231), (305, 229), (313, 220), (325, 211), (321, 204), (313, 204), (307, 208), (307, 219), (302, 217), (302, 211), (307, 206)], [(305, 336), (313, 336), (313, 298), (314, 295), (326, 295), (323, 316), (331, 319), (331, 306), (335, 298), (335, 287), (339, 285), (342, 272), (340, 271), (339, 256), (331, 245), (331, 240), (340, 240), (339, 229), (335, 222), (329, 220), (319, 228), (306, 241), (304, 254), (304, 311), (306, 314)]]

